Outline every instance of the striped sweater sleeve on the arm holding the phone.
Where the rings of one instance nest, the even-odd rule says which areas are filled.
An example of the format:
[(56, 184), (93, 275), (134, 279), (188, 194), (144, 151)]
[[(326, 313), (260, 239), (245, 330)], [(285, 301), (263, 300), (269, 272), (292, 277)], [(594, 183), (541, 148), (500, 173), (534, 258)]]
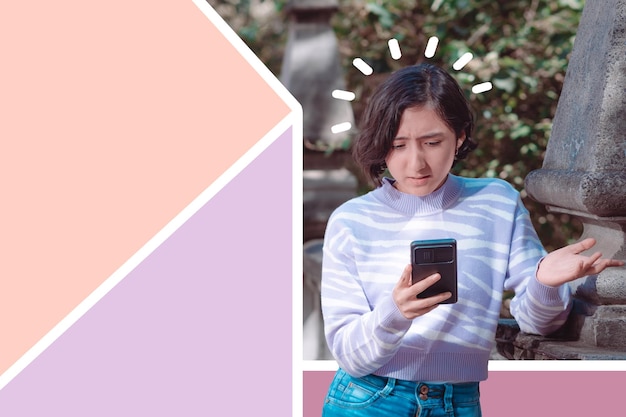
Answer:
[(370, 307), (358, 276), (355, 246), (350, 229), (331, 217), (322, 260), (324, 330), (339, 366), (359, 377), (375, 372), (394, 356), (411, 320), (398, 310), (391, 293)]

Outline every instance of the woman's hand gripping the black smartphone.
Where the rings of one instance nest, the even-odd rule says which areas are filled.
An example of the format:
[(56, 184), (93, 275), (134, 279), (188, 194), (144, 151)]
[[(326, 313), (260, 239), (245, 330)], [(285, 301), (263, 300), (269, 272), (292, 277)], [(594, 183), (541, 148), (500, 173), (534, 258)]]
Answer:
[(450, 292), (433, 295), (428, 298), (417, 298), (426, 288), (441, 279), (441, 275), (433, 274), (413, 284), (411, 279), (411, 265), (407, 265), (400, 276), (400, 280), (393, 289), (393, 301), (404, 317), (413, 320), (416, 317), (432, 311), (439, 303), (452, 296)]

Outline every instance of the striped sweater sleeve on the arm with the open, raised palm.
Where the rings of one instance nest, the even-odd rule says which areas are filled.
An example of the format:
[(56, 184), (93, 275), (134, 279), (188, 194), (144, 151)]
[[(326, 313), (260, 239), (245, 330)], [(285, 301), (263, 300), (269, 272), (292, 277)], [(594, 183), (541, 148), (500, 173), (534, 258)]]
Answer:
[(505, 288), (513, 290), (511, 314), (526, 333), (548, 335), (567, 320), (572, 308), (569, 286), (549, 287), (536, 278), (546, 255), (528, 210), (518, 199)]

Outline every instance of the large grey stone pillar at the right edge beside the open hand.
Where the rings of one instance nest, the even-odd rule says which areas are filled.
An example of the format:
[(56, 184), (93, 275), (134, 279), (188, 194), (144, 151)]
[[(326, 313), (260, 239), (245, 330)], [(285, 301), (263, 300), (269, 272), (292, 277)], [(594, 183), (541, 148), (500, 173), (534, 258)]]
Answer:
[[(626, 259), (626, 0), (587, 0), (545, 160), (526, 190), (550, 211), (580, 219), (581, 239), (598, 241), (592, 251)], [(565, 336), (626, 351), (626, 270), (571, 287), (576, 310)]]

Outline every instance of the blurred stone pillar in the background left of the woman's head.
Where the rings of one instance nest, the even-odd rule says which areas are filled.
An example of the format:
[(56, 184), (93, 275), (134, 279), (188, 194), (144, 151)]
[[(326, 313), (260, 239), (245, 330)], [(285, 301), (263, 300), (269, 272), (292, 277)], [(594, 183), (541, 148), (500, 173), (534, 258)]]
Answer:
[[(332, 96), (346, 90), (339, 45), (330, 21), (337, 0), (290, 0), (289, 35), (281, 82), (302, 105), (304, 152), (304, 240), (323, 237), (330, 213), (356, 196), (357, 180), (346, 169), (347, 145), (354, 136), (350, 101)], [(352, 128), (333, 133), (331, 128)]]

